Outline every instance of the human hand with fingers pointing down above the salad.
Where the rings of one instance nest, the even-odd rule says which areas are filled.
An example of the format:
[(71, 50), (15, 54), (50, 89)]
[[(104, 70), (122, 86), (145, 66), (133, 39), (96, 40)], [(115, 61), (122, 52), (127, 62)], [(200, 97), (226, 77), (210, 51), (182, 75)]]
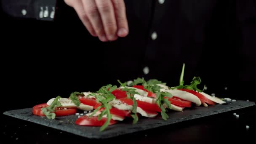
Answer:
[(103, 42), (128, 35), (123, 0), (64, 0), (73, 7), (91, 35)]

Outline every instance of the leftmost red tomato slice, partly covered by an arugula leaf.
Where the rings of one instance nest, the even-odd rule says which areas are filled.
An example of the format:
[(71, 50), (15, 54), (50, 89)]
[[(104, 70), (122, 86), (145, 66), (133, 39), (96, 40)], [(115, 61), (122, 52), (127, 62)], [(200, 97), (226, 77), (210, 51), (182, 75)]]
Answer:
[[(36, 106), (33, 107), (32, 109), (32, 113), (33, 115), (38, 115), (38, 116), (45, 116), (42, 112), (42, 108), (43, 107), (48, 107), (47, 104), (38, 104)], [(60, 117), (60, 116), (66, 116), (66, 115), (74, 115), (77, 112), (76, 108), (56, 108), (55, 109), (55, 115), (56, 117)]]

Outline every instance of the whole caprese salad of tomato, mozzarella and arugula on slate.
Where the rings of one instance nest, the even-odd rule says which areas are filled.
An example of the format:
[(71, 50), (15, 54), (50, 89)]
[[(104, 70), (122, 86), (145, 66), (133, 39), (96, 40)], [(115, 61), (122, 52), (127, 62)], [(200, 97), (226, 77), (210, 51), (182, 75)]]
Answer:
[(190, 85), (184, 85), (184, 67), (183, 64), (180, 85), (176, 87), (169, 87), (156, 79), (146, 81), (137, 78), (125, 83), (117, 80), (120, 87), (109, 84), (94, 93), (74, 92), (69, 98), (57, 96), (45, 104), (33, 107), (32, 113), (55, 119), (84, 112), (75, 121), (76, 125), (101, 126), (100, 131), (104, 131), (108, 125), (125, 118), (133, 119), (135, 124), (141, 116), (152, 118), (160, 114), (163, 120), (167, 120), (166, 112), (169, 110), (183, 112), (192, 106), (208, 107), (225, 102), (198, 89), (200, 77), (194, 77)]

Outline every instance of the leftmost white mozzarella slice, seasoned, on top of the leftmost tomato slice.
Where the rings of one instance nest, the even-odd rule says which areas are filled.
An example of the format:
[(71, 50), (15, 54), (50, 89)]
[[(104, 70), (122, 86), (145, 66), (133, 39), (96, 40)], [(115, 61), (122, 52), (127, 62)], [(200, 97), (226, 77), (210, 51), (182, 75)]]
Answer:
[[(47, 104), (51, 105), (51, 103), (54, 101), (55, 98), (50, 99)], [(70, 100), (67, 98), (60, 98), (58, 100), (61, 103), (61, 107), (65, 108), (77, 108), (85, 111), (93, 110), (92, 106), (86, 105), (86, 104), (80, 104), (78, 107)]]

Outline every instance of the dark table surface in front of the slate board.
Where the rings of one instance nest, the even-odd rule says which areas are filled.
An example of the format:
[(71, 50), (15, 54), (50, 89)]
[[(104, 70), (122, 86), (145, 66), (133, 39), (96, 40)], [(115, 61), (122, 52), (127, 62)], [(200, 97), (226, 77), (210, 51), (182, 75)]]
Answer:
[[(237, 113), (239, 118), (233, 113)], [(58, 143), (216, 143), (253, 141), (256, 136), (256, 106), (237, 109), (187, 122), (154, 128), (110, 139), (86, 139), (71, 133), (3, 115), (3, 141), (25, 144)], [(250, 128), (246, 128), (248, 125)], [(251, 143), (251, 142), (250, 142)]]

